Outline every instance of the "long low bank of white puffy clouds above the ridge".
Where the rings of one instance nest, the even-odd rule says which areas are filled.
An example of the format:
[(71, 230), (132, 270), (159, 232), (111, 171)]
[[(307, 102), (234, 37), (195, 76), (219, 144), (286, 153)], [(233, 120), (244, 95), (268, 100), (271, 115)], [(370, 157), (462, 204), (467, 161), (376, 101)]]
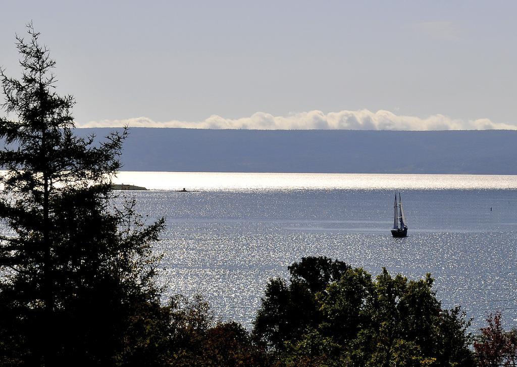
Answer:
[(369, 110), (340, 111), (323, 113), (314, 110), (273, 116), (256, 112), (250, 117), (225, 119), (211, 115), (204, 121), (153, 121), (146, 117), (127, 120), (102, 120), (78, 124), (78, 127), (183, 127), (197, 129), (257, 129), (257, 130), (298, 130), (298, 129), (348, 129), (348, 130), (517, 130), (517, 125), (501, 124), (489, 119), (458, 120), (436, 114), (422, 119), (416, 116), (396, 115), (390, 111)]

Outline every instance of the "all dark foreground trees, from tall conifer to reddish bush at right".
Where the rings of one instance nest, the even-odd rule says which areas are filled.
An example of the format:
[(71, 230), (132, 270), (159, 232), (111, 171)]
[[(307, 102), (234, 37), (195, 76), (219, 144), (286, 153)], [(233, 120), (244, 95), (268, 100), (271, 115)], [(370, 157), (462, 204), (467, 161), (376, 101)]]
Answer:
[(430, 274), (302, 258), (268, 281), (252, 330), (200, 297), (163, 303), (153, 244), (164, 219), (114, 200), (127, 129), (100, 144), (74, 135), (74, 98), (57, 93), (55, 62), (27, 32), (21, 77), (0, 67), (0, 366), (517, 365), (501, 315), (473, 336)]

